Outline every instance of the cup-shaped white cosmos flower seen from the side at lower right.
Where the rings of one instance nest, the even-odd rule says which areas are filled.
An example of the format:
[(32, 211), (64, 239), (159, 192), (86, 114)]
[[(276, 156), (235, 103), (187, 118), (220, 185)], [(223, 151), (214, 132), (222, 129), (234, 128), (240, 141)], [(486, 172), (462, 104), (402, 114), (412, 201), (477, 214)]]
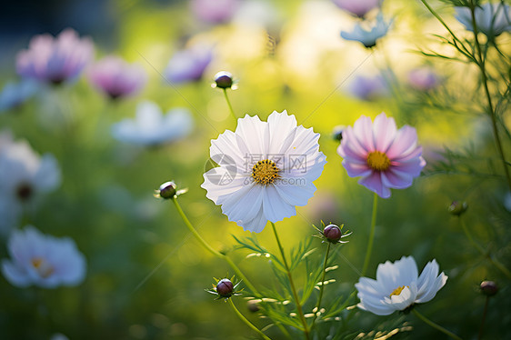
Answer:
[(403, 256), (394, 263), (386, 261), (378, 265), (376, 280), (360, 277), (355, 285), (360, 299), (357, 306), (376, 315), (390, 315), (428, 302), (446, 281), (444, 272), (438, 275), (436, 260), (428, 262), (419, 276), (416, 260)]

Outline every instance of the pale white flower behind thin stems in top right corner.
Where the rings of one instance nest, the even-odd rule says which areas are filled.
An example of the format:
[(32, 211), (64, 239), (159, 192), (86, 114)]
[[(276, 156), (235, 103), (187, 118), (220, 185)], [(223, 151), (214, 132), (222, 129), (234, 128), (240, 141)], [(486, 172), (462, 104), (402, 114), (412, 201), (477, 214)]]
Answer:
[[(476, 7), (477, 31), (495, 37), (511, 31), (511, 11), (509, 5), (486, 3)], [(469, 31), (474, 31), (472, 14), (468, 7), (456, 7), (456, 19)]]

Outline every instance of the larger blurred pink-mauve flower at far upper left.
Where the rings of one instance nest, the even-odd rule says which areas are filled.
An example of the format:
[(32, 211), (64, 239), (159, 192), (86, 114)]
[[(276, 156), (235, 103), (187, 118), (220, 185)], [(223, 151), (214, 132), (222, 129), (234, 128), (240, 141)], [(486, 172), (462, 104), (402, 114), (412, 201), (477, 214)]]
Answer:
[(17, 55), (16, 70), (27, 78), (60, 84), (80, 75), (93, 57), (92, 41), (67, 28), (56, 38), (35, 35), (28, 49)]

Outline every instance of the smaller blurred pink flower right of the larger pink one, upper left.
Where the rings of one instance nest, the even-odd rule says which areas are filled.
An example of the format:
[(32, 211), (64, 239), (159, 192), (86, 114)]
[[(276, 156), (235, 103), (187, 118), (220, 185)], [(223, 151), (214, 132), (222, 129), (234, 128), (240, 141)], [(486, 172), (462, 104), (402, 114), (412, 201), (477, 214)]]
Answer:
[(135, 95), (147, 82), (141, 65), (128, 64), (118, 56), (106, 56), (88, 72), (90, 82), (112, 99)]

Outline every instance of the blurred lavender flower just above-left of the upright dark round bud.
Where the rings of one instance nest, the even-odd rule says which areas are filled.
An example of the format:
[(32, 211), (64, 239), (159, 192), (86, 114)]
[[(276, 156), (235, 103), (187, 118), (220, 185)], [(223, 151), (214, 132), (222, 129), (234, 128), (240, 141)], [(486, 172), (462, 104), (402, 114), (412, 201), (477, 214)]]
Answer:
[(175, 84), (200, 80), (212, 58), (209, 46), (194, 45), (177, 51), (165, 68), (165, 77)]

